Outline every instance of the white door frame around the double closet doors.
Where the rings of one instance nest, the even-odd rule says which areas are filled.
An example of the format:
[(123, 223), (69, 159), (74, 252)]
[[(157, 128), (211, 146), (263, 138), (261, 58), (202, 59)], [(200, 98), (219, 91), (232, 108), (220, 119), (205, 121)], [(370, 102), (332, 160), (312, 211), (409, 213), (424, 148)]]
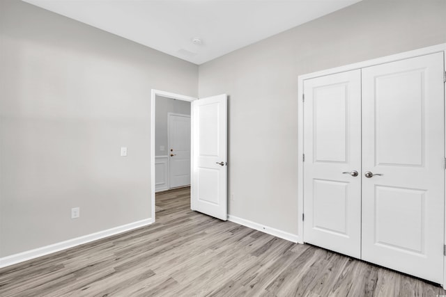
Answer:
[[(360, 63), (354, 63), (350, 65), (344, 65), (341, 67), (335, 67), (328, 70), (322, 70), (318, 72), (312, 72), (309, 74), (303, 74), (298, 77), (298, 218), (299, 218), (299, 225), (298, 225), (298, 243), (304, 243), (304, 221), (303, 221), (303, 207), (304, 207), (304, 191), (303, 191), (303, 184), (304, 184), (304, 161), (303, 161), (303, 154), (304, 154), (304, 102), (303, 102), (303, 86), (304, 81), (306, 79), (314, 79), (316, 77), (322, 77), (329, 74), (336, 74), (339, 72), (346, 72), (350, 70), (356, 70), (364, 67), (374, 66), (374, 65), (380, 65), (384, 63), (394, 62), (403, 60), (406, 58), (415, 58), (417, 56), (424, 56), (427, 54), (434, 54), (438, 52), (443, 52), (443, 63), (445, 63), (445, 69), (446, 69), (446, 43), (440, 44), (440, 45), (434, 45), (432, 47), (424, 47), (422, 49), (415, 49), (413, 51), (405, 51), (400, 54), (394, 54), (391, 56), (385, 56), (382, 58), (376, 58), (373, 60), (363, 61)], [(445, 84), (445, 94), (446, 94), (446, 84)], [(446, 116), (446, 108), (445, 108), (445, 116)], [(445, 124), (446, 127), (446, 124)], [(445, 129), (446, 131), (446, 129)], [(446, 156), (446, 145), (445, 145), (445, 156)], [(445, 203), (446, 208), (446, 203)], [(446, 209), (445, 209), (446, 214)], [(445, 240), (446, 240), (446, 220), (445, 220)], [(445, 242), (446, 244), (446, 242)], [(444, 257), (444, 269), (445, 272), (443, 273), (443, 288), (446, 289), (446, 257)]]

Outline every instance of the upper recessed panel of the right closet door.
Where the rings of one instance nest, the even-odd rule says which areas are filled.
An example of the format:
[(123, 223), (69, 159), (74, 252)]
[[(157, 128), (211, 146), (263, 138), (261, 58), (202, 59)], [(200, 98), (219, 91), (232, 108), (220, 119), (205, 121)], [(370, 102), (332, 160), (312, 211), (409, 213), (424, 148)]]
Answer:
[[(423, 165), (424, 72), (424, 69), (415, 69), (374, 77), (376, 164)], [(395, 125), (397, 120), (404, 121), (403, 129)]]

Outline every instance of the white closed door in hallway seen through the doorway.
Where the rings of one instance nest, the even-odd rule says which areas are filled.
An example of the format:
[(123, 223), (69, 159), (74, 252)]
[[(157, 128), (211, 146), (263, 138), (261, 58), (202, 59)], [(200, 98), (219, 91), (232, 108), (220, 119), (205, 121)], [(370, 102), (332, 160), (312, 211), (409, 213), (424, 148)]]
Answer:
[(169, 188), (190, 185), (190, 115), (169, 113)]

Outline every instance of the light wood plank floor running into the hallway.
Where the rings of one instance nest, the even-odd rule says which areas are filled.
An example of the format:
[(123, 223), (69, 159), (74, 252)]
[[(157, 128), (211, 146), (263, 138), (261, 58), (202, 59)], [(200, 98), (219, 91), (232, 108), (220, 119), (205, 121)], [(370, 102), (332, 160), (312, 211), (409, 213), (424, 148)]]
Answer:
[(432, 296), (440, 287), (190, 210), (157, 194), (156, 222), (0, 269), (0, 296)]

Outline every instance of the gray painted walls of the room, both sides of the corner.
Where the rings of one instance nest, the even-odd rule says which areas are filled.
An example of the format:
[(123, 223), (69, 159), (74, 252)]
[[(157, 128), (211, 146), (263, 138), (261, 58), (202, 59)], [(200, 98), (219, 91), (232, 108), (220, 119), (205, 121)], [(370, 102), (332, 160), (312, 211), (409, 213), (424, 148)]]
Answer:
[(446, 42), (445, 15), (364, 0), (197, 67), (0, 1), (0, 257), (149, 218), (151, 88), (197, 97), (197, 76), (230, 96), (229, 213), (296, 234), (298, 75)]

